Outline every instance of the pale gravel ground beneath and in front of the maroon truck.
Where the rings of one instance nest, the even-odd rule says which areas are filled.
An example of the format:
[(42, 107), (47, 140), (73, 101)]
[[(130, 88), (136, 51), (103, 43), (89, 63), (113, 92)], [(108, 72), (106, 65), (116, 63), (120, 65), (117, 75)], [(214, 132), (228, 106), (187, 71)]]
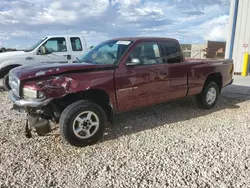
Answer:
[(225, 88), (208, 111), (191, 97), (119, 115), (85, 148), (25, 138), (24, 114), (0, 100), (1, 188), (250, 186), (250, 87)]

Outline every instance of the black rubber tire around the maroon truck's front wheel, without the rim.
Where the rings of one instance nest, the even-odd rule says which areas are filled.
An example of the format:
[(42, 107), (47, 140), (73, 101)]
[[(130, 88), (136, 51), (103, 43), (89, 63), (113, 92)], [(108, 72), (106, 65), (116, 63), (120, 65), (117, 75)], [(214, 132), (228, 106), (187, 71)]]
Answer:
[[(93, 112), (99, 118), (99, 127), (96, 132), (86, 139), (79, 138), (73, 130), (76, 117), (85, 111)], [(85, 147), (87, 145), (95, 144), (100, 140), (103, 136), (106, 121), (106, 114), (99, 105), (91, 101), (81, 100), (74, 102), (65, 108), (59, 120), (59, 127), (62, 137), (69, 144), (77, 147)]]

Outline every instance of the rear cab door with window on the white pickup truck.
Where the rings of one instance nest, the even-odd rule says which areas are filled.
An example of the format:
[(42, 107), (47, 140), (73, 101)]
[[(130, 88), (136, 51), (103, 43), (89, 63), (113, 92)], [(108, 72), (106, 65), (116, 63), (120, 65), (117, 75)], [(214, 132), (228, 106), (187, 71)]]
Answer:
[(71, 46), (71, 62), (77, 62), (76, 58), (79, 58), (86, 52), (85, 41), (81, 40), (80, 37), (70, 37)]

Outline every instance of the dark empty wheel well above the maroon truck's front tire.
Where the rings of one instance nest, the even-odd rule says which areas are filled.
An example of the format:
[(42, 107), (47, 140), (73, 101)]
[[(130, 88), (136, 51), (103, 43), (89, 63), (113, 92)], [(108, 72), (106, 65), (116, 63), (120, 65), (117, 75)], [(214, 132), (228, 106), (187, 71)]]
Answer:
[(99, 89), (91, 89), (83, 92), (72, 93), (61, 99), (56, 99), (55, 104), (63, 111), (68, 105), (79, 101), (90, 100), (98, 104), (105, 111), (109, 121), (113, 122), (113, 109), (107, 92)]

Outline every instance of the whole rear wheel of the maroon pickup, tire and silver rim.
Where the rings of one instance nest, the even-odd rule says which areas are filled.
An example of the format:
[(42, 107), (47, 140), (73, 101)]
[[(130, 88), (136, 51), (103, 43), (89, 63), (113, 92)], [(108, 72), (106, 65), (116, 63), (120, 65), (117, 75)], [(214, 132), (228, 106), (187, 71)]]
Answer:
[(205, 109), (211, 109), (217, 102), (219, 87), (215, 82), (208, 83), (200, 94), (196, 96), (198, 105)]

